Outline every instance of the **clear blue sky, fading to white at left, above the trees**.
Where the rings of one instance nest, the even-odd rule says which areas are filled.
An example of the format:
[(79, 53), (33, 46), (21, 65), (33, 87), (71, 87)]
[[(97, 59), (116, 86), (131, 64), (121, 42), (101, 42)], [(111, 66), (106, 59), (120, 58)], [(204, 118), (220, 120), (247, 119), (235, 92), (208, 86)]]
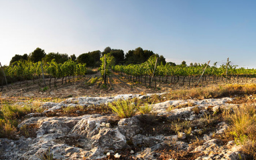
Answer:
[(256, 1), (0, 0), (0, 62), (42, 48), (80, 54), (141, 47), (168, 62), (256, 68)]

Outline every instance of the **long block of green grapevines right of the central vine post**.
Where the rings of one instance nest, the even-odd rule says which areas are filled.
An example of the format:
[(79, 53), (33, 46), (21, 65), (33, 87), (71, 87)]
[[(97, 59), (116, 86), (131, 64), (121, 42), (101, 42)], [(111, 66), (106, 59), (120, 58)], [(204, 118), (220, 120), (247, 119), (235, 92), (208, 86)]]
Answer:
[[(149, 86), (151, 86), (151, 78), (153, 76), (153, 69), (155, 64), (156, 57), (151, 57), (147, 62), (143, 64), (129, 64), (128, 66), (113, 66), (112, 70), (118, 72), (119, 74), (124, 74), (128, 78), (133, 78), (133, 81), (145, 82), (146, 79), (149, 82)], [(155, 76), (159, 77), (159, 81), (168, 82), (168, 78), (171, 78), (171, 82), (175, 78), (174, 82), (178, 82), (180, 78), (183, 79), (183, 84), (186, 80), (188, 80), (188, 84), (190, 85), (190, 80), (198, 80), (199, 76), (202, 74), (202, 71), (206, 67), (206, 64), (202, 66), (170, 66), (159, 65), (155, 70)], [(228, 71), (228, 72), (227, 72)], [(256, 77), (255, 69), (245, 69), (245, 68), (237, 68), (237, 66), (222, 65), (220, 67), (216, 66), (208, 66), (204, 72), (204, 77), (209, 77), (212, 81), (215, 81), (216, 78), (237, 78), (239, 77)]]

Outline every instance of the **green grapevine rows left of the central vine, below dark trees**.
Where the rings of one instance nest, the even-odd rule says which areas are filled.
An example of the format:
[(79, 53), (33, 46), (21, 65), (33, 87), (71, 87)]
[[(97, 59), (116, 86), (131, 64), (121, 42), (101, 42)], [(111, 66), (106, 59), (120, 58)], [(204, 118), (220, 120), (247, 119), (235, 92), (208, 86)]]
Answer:
[[(68, 62), (64, 62), (64, 64), (58, 64), (55, 60), (52, 62), (48, 62), (44, 64), (42, 62), (27, 62), (27, 61), (18, 61), (13, 63), (11, 66), (7, 66), (5, 68), (5, 74), (12, 80), (19, 79), (22, 80), (35, 80), (36, 77), (41, 78), (42, 71), (44, 74), (48, 74), (50, 76), (49, 85), (51, 87), (51, 80), (54, 78), (54, 86), (56, 86), (56, 82), (59, 78), (62, 78), (62, 84), (64, 78), (68, 77), (70, 81), (70, 77), (74, 76), (80, 78), (84, 74), (86, 74), (86, 64), (77, 64), (72, 60), (68, 60)], [(35, 83), (35, 81), (34, 81)], [(41, 82), (39, 81), (39, 86), (41, 86)]]

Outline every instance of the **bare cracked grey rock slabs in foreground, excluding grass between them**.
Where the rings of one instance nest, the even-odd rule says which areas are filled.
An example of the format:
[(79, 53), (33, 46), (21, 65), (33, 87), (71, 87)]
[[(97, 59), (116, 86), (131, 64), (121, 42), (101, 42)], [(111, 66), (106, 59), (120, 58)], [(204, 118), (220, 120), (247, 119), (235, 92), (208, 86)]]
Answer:
[[(122, 94), (115, 97), (80, 97), (68, 98), (60, 103), (46, 102), (41, 107), (44, 112), (65, 108), (67, 106), (89, 106), (107, 104), (119, 98), (147, 98), (139, 94)], [(218, 112), (220, 108), (231, 106), (226, 102), (232, 98), (206, 100), (168, 100), (153, 104), (152, 113), (155, 117), (164, 117), (161, 123), (166, 125), (173, 121), (204, 122), (208, 112)], [(169, 106), (192, 103), (195, 106), (167, 110)], [(213, 106), (209, 110), (209, 106)], [(199, 112), (196, 113), (194, 108)], [(147, 115), (145, 115), (147, 116)], [(151, 116), (149, 116), (150, 118)], [(239, 159), (243, 158), (240, 146), (233, 141), (220, 144), (214, 134), (222, 134), (229, 125), (219, 122), (212, 131), (200, 135), (204, 129), (193, 126), (190, 135), (185, 133), (159, 133), (146, 131), (142, 115), (131, 118), (117, 118), (115, 114), (84, 114), (82, 116), (32, 116), (22, 121), (18, 128), (24, 125), (36, 125), (36, 137), (19, 137), (18, 140), (0, 139), (1, 159), (40, 159), (45, 153), (52, 153), (54, 159), (103, 159), (108, 156), (120, 158), (128, 155), (129, 159), (159, 159), (164, 148), (177, 151), (189, 151), (192, 154), (201, 153), (200, 159)], [(116, 120), (113, 123), (113, 119)], [(201, 122), (202, 121), (202, 122)], [(147, 122), (148, 125), (150, 121)], [(153, 123), (152, 123), (153, 124)], [(171, 123), (170, 123), (171, 124)], [(166, 125), (168, 127), (168, 125)], [(165, 130), (166, 128), (162, 128)], [(202, 137), (202, 144), (197, 147), (190, 145), (188, 137)]]

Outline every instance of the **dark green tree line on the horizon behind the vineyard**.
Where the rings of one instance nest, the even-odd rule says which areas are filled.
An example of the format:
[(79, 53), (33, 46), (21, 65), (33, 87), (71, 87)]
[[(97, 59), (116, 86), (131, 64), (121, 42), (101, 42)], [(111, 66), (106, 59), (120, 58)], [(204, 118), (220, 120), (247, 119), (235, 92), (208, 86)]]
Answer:
[[(76, 55), (68, 56), (68, 54), (59, 54), (50, 52), (49, 54), (46, 54), (44, 50), (41, 48), (36, 48), (34, 52), (31, 52), (30, 54), (23, 54), (19, 55), (16, 54), (11, 58), (11, 61), (9, 65), (13, 64), (14, 62), (25, 60), (29, 62), (52, 62), (52, 60), (55, 60), (58, 64), (64, 64), (64, 62), (68, 62), (68, 60), (72, 60), (74, 62), (78, 62), (79, 64), (86, 64), (87, 67), (99, 67), (101, 66), (101, 58), (105, 54), (110, 54), (115, 58), (115, 64), (116, 65), (129, 65), (129, 64), (141, 64), (143, 62), (146, 62), (150, 56), (156, 55), (159, 57), (159, 62), (162, 64), (166, 64), (166, 58), (164, 56), (159, 56), (158, 54), (155, 54), (153, 51), (150, 50), (143, 50), (142, 48), (136, 48), (135, 50), (129, 50), (126, 54), (123, 52), (123, 50), (119, 49), (111, 49), (110, 47), (105, 48), (103, 52), (100, 50), (80, 54), (77, 58)], [(174, 64), (174, 63), (173, 63)]]

